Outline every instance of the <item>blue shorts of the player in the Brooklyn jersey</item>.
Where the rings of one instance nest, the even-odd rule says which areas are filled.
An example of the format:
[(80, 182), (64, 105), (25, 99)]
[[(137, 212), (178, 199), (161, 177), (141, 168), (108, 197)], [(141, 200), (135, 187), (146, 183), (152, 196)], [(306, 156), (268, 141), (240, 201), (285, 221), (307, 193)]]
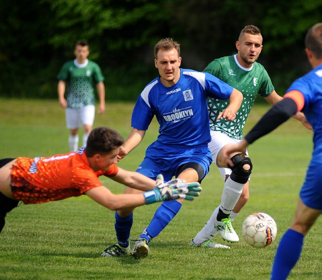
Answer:
[(169, 181), (177, 175), (179, 166), (189, 162), (198, 163), (203, 168), (205, 177), (212, 162), (208, 145), (173, 146), (155, 141), (146, 149), (145, 157), (136, 172), (153, 180), (158, 174), (163, 174), (165, 180)]

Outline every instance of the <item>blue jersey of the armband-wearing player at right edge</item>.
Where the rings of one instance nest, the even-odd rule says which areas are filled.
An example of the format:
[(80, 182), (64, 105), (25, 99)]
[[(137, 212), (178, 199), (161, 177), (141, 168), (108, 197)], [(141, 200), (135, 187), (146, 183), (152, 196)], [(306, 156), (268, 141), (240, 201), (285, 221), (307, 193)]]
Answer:
[(322, 162), (322, 65), (296, 79), (287, 89), (298, 90), (304, 96), (304, 108), (307, 121), (311, 124), (314, 137), (312, 161)]

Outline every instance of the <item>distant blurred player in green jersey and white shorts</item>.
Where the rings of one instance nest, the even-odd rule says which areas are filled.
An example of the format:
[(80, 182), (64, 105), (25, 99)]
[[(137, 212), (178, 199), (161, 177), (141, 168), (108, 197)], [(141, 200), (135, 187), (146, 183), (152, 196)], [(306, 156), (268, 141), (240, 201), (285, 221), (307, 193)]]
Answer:
[[(78, 128), (83, 126), (83, 145), (92, 130), (95, 118), (96, 84), (100, 99), (99, 114), (105, 111), (104, 76), (100, 66), (88, 59), (90, 54), (87, 41), (78, 41), (75, 45), (75, 59), (67, 61), (57, 75), (58, 100), (66, 109), (66, 126), (70, 131), (68, 145), (70, 151), (78, 149)], [(66, 99), (64, 95), (66, 93)]]

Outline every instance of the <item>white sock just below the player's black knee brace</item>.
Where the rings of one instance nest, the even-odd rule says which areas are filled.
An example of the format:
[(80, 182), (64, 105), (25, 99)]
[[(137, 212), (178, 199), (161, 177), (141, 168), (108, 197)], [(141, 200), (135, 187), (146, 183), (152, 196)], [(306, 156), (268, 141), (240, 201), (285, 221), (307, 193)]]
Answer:
[(225, 214), (230, 214), (235, 207), (245, 184), (237, 183), (230, 179), (230, 176), (225, 181), (221, 196), (220, 209)]

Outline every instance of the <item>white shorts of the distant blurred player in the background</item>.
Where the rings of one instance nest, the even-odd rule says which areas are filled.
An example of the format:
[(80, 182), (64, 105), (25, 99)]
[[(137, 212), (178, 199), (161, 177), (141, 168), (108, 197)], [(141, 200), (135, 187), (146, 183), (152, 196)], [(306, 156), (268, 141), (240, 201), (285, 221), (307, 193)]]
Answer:
[(83, 125), (93, 126), (95, 118), (95, 105), (87, 105), (83, 108), (66, 108), (66, 127), (76, 129)]

